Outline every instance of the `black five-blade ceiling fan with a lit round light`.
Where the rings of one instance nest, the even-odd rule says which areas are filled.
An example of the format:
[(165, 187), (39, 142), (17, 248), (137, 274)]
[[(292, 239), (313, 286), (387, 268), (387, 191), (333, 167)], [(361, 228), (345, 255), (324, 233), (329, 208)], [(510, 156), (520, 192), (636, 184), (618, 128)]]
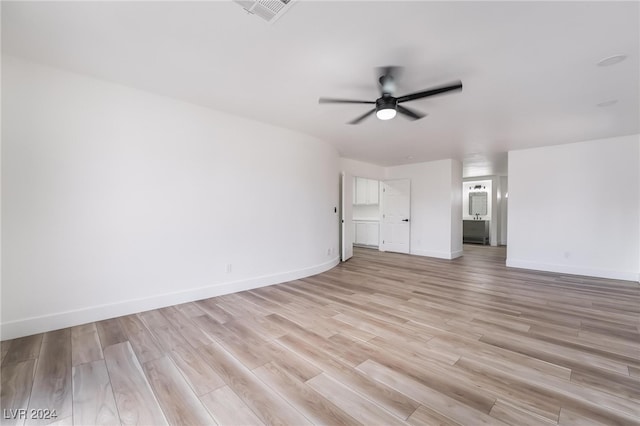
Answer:
[(321, 104), (375, 104), (375, 107), (370, 111), (362, 114), (356, 119), (348, 122), (347, 124), (358, 124), (374, 112), (376, 116), (380, 120), (391, 120), (396, 116), (396, 113), (400, 113), (405, 115), (406, 117), (412, 120), (418, 120), (426, 114), (423, 114), (418, 111), (411, 110), (407, 107), (400, 105), (403, 102), (414, 101), (416, 99), (426, 98), (429, 96), (439, 95), (441, 93), (452, 92), (457, 90), (462, 90), (462, 82), (460, 80), (455, 81), (453, 83), (449, 83), (443, 86), (432, 87), (427, 90), (423, 90), (420, 92), (411, 93), (409, 95), (395, 97), (393, 96), (395, 92), (395, 76), (398, 74), (399, 67), (384, 67), (380, 70), (382, 71), (382, 75), (378, 79), (380, 83), (380, 92), (381, 95), (375, 101), (359, 101), (352, 99), (335, 99), (335, 98), (320, 98), (318, 102)]

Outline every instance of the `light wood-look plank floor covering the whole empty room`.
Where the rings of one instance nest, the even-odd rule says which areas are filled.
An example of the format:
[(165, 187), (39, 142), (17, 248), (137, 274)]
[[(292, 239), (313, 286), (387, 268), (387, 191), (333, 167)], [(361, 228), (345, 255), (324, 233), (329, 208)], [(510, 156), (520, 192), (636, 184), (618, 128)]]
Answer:
[(1, 423), (640, 425), (638, 283), (504, 257), (356, 249), (306, 279), (2, 342)]

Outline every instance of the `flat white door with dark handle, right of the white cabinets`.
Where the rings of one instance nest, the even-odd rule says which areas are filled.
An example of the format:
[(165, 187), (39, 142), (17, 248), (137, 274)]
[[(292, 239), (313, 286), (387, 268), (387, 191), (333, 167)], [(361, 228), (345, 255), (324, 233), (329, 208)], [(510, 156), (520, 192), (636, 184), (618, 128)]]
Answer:
[(409, 253), (411, 230), (411, 181), (382, 182), (382, 235), (380, 249)]

